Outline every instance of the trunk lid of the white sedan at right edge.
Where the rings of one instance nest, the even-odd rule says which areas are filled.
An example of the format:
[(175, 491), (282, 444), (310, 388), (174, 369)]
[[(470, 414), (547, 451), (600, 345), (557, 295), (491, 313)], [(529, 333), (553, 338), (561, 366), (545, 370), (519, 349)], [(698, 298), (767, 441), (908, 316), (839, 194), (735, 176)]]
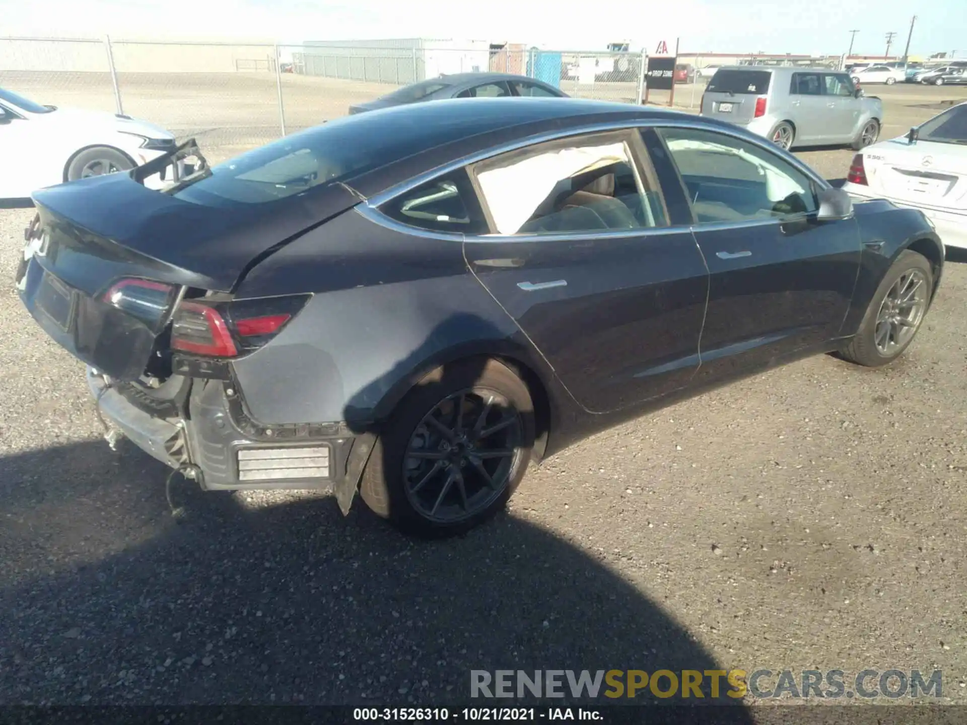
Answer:
[(949, 211), (967, 210), (967, 146), (905, 138), (864, 152), (871, 191), (896, 201)]

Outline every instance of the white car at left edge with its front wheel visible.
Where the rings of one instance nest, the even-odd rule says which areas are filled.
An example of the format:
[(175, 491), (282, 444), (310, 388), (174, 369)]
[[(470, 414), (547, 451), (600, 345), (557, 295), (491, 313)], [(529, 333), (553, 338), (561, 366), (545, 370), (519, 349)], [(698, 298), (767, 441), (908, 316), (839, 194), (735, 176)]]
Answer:
[[(175, 137), (145, 121), (102, 111), (42, 105), (0, 88), (0, 199), (86, 176), (126, 171), (175, 148)], [(155, 175), (146, 186), (163, 186)]]

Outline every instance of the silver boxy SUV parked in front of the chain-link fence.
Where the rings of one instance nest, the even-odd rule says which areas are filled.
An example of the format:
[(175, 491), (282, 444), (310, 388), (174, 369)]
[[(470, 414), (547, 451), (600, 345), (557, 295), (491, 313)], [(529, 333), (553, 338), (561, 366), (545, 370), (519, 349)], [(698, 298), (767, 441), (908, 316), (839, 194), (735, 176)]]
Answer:
[(720, 68), (702, 96), (702, 115), (772, 139), (783, 149), (875, 143), (883, 103), (848, 73), (824, 68)]

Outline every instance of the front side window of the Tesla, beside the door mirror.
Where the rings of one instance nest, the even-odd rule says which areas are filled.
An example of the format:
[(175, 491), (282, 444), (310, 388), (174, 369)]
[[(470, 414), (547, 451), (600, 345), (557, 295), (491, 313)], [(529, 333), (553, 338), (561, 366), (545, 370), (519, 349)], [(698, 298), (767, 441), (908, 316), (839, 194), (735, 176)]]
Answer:
[(699, 224), (809, 214), (811, 180), (776, 154), (714, 131), (660, 131)]

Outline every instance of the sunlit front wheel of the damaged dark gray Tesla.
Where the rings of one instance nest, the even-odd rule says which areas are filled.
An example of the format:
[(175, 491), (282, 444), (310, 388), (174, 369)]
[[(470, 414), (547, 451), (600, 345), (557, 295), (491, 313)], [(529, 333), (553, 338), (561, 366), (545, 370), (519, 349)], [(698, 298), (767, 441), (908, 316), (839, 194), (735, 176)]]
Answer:
[(866, 308), (860, 330), (841, 351), (843, 357), (867, 367), (894, 362), (920, 330), (932, 293), (930, 262), (923, 254), (901, 251)]

